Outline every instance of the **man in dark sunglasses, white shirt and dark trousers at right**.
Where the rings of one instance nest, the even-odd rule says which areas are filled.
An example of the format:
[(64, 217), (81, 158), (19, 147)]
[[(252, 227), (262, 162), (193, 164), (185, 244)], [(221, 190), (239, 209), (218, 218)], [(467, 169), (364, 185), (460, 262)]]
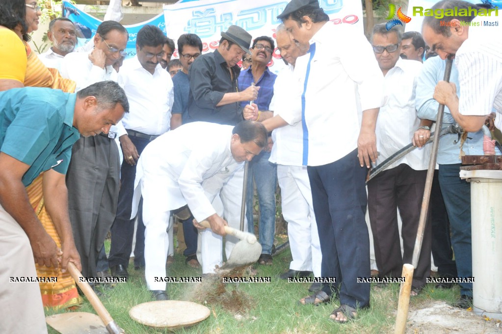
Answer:
[[(385, 24), (374, 26), (371, 44), (384, 74), (387, 104), (380, 108), (376, 121), (376, 148), (379, 165), (408, 145), (420, 119), (415, 110), (416, 78), (422, 63), (400, 58), (401, 31), (388, 31)], [(400, 277), (403, 263), (411, 263), (417, 237), (430, 148), (416, 149), (384, 172), (371, 179), (368, 186), (368, 213), (373, 233), (376, 265), (381, 277)], [(403, 221), (404, 254), (398, 229), (398, 213)], [(418, 266), (413, 274), (412, 295), (426, 283), (431, 268), (431, 225), (426, 224)]]

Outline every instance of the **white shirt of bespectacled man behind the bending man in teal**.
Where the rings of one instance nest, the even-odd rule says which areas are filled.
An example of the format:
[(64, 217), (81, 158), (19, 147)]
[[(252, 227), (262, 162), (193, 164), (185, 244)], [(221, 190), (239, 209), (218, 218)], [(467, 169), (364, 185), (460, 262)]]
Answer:
[[(89, 52), (71, 52), (67, 54), (61, 62), (61, 76), (76, 82), (77, 87), (75, 92), (100, 81), (113, 80), (117, 81), (117, 71), (111, 65), (102, 69), (99, 66), (94, 66), (89, 60)], [(120, 136), (126, 135), (122, 122), (111, 126), (111, 132), (117, 134), (117, 139)], [(119, 150), (120, 151), (120, 150)]]

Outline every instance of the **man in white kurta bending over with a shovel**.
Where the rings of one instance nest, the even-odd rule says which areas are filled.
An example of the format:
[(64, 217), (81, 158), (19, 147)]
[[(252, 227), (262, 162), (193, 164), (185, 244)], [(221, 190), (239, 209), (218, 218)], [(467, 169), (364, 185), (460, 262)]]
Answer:
[[(253, 121), (235, 127), (194, 122), (147, 145), (138, 161), (134, 202), (138, 203), (143, 195), (145, 278), (154, 295), (166, 289), (166, 283), (159, 278), (166, 276), (170, 211), (188, 204), (197, 221), (209, 221), (211, 230), (203, 233), (221, 240), (225, 235), (223, 225), (227, 225), (222, 218), (224, 208), (213, 207), (211, 202), (222, 196), (222, 188), (242, 168), (242, 162), (250, 161), (262, 151), (266, 138), (265, 127)], [(235, 196), (241, 194), (242, 188)], [(137, 205), (133, 205), (133, 215), (135, 208)], [(221, 258), (221, 241), (219, 245), (202, 251), (219, 254)]]

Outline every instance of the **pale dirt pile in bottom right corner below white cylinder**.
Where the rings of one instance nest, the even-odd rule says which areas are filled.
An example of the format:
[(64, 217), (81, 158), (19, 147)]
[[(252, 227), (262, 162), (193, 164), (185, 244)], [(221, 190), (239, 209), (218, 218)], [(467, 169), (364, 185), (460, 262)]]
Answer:
[(410, 308), (407, 334), (502, 333), (500, 321), (483, 318), (472, 311), (434, 301), (425, 307)]

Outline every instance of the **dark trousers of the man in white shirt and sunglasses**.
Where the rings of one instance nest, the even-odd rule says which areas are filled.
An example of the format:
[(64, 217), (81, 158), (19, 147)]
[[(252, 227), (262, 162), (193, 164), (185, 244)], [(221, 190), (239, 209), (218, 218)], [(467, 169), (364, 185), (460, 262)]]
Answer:
[[(412, 263), (417, 238), (418, 222), (424, 195), (427, 170), (414, 170), (406, 164), (383, 171), (368, 182), (368, 212), (373, 233), (375, 260), (381, 277), (401, 277), (403, 263)], [(403, 221), (401, 236), (398, 229), (397, 209)], [(413, 273), (414, 288), (422, 288), (431, 269), (430, 210), (427, 218), (422, 249)]]

